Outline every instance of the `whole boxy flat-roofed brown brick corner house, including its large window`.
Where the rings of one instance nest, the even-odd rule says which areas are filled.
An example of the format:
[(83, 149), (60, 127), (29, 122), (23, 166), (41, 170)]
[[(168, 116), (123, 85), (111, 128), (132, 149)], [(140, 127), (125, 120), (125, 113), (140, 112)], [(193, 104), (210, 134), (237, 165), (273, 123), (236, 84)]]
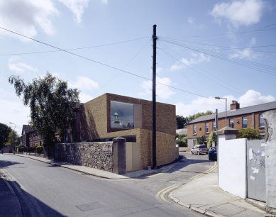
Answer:
[[(175, 105), (156, 105), (157, 165), (177, 159)], [(74, 133), (73, 133), (74, 132)], [(74, 135), (75, 134), (75, 135)], [(68, 138), (76, 142), (109, 141), (121, 136), (140, 145), (140, 169), (152, 165), (152, 101), (104, 94), (80, 104)]]

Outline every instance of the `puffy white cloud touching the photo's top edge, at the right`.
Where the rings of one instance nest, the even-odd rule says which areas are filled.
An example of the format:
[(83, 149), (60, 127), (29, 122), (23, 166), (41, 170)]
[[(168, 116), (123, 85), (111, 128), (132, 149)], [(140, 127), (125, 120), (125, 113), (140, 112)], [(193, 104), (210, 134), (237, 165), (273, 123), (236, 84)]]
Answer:
[(226, 21), (232, 26), (250, 26), (258, 23), (263, 13), (261, 0), (236, 0), (229, 3), (216, 4), (211, 11), (216, 21)]

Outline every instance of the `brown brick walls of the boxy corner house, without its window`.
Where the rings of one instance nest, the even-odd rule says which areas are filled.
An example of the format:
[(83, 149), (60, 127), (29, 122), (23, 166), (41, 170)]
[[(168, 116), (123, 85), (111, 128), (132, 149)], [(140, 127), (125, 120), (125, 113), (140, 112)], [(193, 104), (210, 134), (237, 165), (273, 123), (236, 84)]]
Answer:
[[(141, 127), (114, 130), (111, 128), (111, 101), (141, 105)], [(157, 165), (174, 161), (175, 154), (175, 106), (157, 103)], [(140, 143), (141, 168), (152, 165), (152, 102), (115, 94), (104, 94), (88, 101), (79, 109), (79, 141), (136, 135)], [(140, 121), (140, 120), (139, 120)]]

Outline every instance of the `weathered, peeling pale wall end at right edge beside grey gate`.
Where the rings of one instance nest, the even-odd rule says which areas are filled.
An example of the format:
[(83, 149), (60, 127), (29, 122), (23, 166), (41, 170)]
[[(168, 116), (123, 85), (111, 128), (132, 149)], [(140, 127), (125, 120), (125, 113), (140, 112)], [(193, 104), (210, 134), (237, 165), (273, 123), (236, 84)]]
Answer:
[(263, 113), (265, 118), (265, 182), (267, 211), (276, 212), (276, 110)]

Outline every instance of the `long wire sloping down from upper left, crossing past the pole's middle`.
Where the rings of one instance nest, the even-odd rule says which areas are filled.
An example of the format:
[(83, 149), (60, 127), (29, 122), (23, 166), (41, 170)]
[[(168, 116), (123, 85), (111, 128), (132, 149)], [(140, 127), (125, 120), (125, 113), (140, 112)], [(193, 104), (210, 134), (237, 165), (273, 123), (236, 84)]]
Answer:
[[(114, 66), (105, 64), (105, 63), (103, 63), (103, 62), (99, 62), (99, 61), (96, 61), (96, 60), (92, 60), (92, 59), (90, 59), (90, 58), (88, 58), (88, 57), (84, 57), (84, 56), (82, 56), (82, 55), (77, 55), (77, 54), (74, 53), (74, 52), (70, 52), (70, 51), (64, 50), (64, 49), (62, 49), (62, 48), (57, 48), (57, 47), (54, 46), (54, 45), (50, 45), (50, 44), (44, 43), (44, 42), (42, 42), (42, 41), (40, 41), (40, 40), (36, 40), (36, 39), (34, 39), (34, 38), (30, 38), (30, 37), (28, 37), (28, 36), (26, 36), (26, 35), (22, 35), (22, 34), (20, 34), (20, 33), (16, 33), (16, 32), (14, 32), (14, 31), (12, 31), (12, 30), (3, 28), (3, 27), (1, 27), (1, 26), (0, 26), (0, 28), (3, 29), (3, 30), (8, 31), (8, 32), (10, 32), (10, 33), (13, 33), (13, 34), (16, 34), (16, 35), (20, 35), (20, 36), (22, 36), (23, 38), (28, 38), (28, 39), (30, 39), (30, 40), (33, 40), (33, 41), (37, 42), (37, 43), (40, 43), (40, 44), (49, 46), (49, 47), (51, 47), (51, 48), (55, 48), (55, 49), (57, 49), (57, 50), (61, 50), (61, 51), (63, 51), (63, 52), (67, 52), (67, 53), (69, 53), (70, 55), (74, 55), (74, 56), (80, 57), (80, 58), (82, 58), (82, 59), (84, 59), (84, 60), (89, 60), (89, 61), (95, 62), (95, 63), (97, 63), (97, 64), (99, 64), (99, 65), (104, 65), (105, 67), (109, 67), (109, 68), (111, 68), (111, 69), (116, 69), (116, 70), (118, 70), (118, 71), (120, 71), (120, 72), (124, 72), (124, 73), (126, 73), (126, 74), (131, 74), (131, 75), (133, 75), (133, 76), (135, 76), (135, 77), (140, 77), (141, 79), (145, 79), (145, 80), (148, 80), (148, 81), (152, 81), (152, 79), (148, 79), (148, 78), (146, 78), (146, 77), (140, 76), (140, 75), (138, 75), (138, 74), (134, 74), (134, 73), (132, 73), (132, 72), (128, 72), (128, 71), (123, 70), (123, 69), (119, 69), (119, 68), (117, 68), (117, 67), (114, 67)], [(179, 91), (182, 91), (182, 92), (185, 92), (185, 93), (188, 93), (188, 94), (192, 94), (192, 95), (195, 95), (195, 96), (201, 96), (201, 97), (204, 97), (204, 98), (208, 98), (208, 99), (209, 99), (209, 97), (207, 97), (207, 96), (202, 96), (202, 95), (200, 95), (200, 94), (196, 94), (196, 93), (193, 93), (193, 92), (191, 92), (191, 91), (185, 91), (184, 89), (180, 89), (180, 88), (177, 88), (177, 87), (172, 87), (172, 86), (170, 86), (170, 85), (162, 84), (162, 83), (160, 83), (160, 82), (156, 82), (156, 83), (157, 83), (157, 84), (161, 84), (161, 85), (163, 85), (163, 86), (165, 86), (165, 87), (170, 87), (170, 88), (172, 88), (172, 89), (177, 89), (177, 90), (179, 90)]]

